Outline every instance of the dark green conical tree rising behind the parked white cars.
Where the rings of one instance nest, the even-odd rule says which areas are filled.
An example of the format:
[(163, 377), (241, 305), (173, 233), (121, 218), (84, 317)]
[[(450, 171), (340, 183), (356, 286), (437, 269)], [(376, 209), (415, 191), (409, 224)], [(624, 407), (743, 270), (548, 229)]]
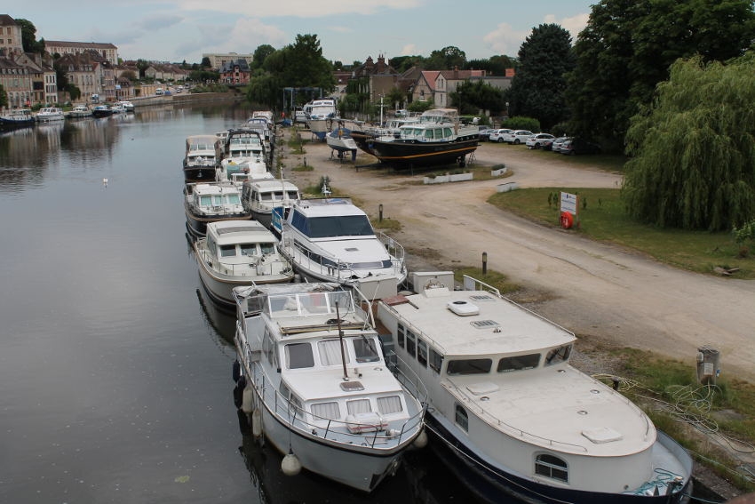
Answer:
[(556, 24), (532, 28), (519, 50), (509, 91), (509, 114), (536, 117), (549, 129), (567, 117), (566, 74), (574, 68), (571, 36)]

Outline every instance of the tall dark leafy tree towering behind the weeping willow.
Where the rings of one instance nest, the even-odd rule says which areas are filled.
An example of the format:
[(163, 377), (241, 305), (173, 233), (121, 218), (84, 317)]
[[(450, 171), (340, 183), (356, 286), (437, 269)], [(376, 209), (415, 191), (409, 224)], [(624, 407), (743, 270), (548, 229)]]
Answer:
[(601, 0), (575, 44), (568, 76), (571, 129), (615, 146), (679, 58), (743, 54), (755, 39), (751, 0)]

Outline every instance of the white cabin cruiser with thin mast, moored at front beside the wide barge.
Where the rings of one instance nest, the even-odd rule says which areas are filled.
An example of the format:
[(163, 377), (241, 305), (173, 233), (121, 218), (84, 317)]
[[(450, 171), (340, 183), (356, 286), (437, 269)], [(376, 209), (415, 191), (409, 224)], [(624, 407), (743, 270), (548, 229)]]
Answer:
[(425, 440), (421, 384), (388, 369), (363, 298), (338, 284), (236, 287), (234, 400), (299, 468), (371, 492)]

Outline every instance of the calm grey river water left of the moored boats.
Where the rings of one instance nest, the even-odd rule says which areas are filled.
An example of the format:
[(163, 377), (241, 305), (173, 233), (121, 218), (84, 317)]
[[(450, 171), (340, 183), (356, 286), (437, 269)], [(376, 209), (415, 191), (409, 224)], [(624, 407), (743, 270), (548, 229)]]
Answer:
[[(184, 140), (241, 106), (0, 133), (0, 502), (473, 502), (430, 452), (365, 496), (242, 436), (234, 319), (203, 299)], [(107, 185), (104, 180), (107, 179)]]

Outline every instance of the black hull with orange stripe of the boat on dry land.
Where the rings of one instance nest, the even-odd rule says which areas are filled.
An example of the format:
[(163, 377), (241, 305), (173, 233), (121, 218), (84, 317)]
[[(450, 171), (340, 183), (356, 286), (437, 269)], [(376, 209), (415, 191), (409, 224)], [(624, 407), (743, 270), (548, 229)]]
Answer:
[(465, 157), (477, 149), (478, 142), (477, 138), (449, 142), (368, 140), (373, 155), (382, 163), (406, 167), (452, 163), (463, 166)]

